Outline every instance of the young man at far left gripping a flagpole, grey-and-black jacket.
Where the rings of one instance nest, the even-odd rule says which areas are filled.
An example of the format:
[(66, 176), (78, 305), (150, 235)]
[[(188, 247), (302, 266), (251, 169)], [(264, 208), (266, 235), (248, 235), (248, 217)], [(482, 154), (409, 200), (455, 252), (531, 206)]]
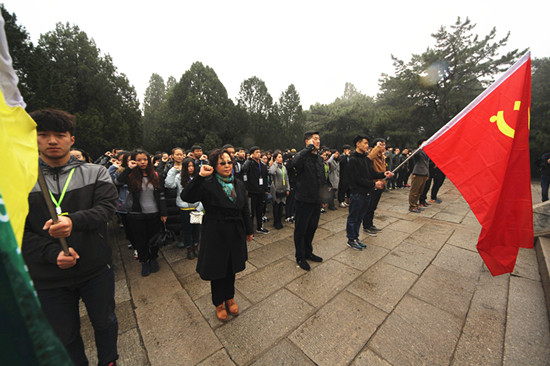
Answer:
[[(118, 194), (105, 167), (70, 155), (74, 116), (59, 110), (31, 113), (36, 122), (39, 167), (56, 206), (52, 222), (40, 187), (29, 194), (22, 253), (42, 311), (73, 363), (88, 365), (80, 335), (81, 298), (94, 328), (99, 365), (118, 359), (115, 280), (107, 221)], [(58, 239), (65, 238), (69, 254)]]

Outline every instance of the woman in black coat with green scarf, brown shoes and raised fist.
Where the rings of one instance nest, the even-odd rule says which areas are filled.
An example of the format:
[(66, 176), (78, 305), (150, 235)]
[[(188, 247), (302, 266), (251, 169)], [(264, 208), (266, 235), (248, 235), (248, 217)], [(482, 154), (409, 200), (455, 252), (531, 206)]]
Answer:
[(239, 314), (234, 300), (235, 274), (245, 268), (246, 242), (252, 240), (253, 230), (244, 183), (233, 177), (231, 156), (216, 149), (209, 161), (211, 165), (203, 165), (181, 192), (181, 199), (201, 201), (205, 208), (197, 272), (211, 281), (216, 316), (225, 321), (227, 309), (231, 315)]

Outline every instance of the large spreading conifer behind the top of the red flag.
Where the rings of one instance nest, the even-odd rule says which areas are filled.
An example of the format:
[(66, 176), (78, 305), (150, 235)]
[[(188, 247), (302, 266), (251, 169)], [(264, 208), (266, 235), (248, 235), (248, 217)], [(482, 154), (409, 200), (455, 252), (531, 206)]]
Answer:
[(432, 34), (433, 48), (408, 63), (392, 56), (395, 76), (382, 76), (379, 106), (402, 109), (392, 117), (414, 135), (431, 135), (447, 123), (521, 56), (517, 49), (499, 55), (509, 34), (495, 41), (495, 28), (481, 38), (474, 28), (469, 19), (458, 18), (450, 30)]

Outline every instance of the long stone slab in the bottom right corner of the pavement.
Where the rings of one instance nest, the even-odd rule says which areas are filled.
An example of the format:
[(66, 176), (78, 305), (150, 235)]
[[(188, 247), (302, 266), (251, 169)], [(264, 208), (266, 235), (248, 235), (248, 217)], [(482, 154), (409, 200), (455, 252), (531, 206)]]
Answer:
[(503, 365), (547, 365), (550, 330), (541, 283), (510, 277)]

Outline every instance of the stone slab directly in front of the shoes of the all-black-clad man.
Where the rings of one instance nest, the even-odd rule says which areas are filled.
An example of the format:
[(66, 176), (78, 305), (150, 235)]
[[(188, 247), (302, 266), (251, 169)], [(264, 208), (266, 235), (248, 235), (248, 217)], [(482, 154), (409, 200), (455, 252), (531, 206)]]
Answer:
[(315, 307), (320, 307), (361, 274), (355, 268), (335, 260), (323, 262), (286, 286)]

